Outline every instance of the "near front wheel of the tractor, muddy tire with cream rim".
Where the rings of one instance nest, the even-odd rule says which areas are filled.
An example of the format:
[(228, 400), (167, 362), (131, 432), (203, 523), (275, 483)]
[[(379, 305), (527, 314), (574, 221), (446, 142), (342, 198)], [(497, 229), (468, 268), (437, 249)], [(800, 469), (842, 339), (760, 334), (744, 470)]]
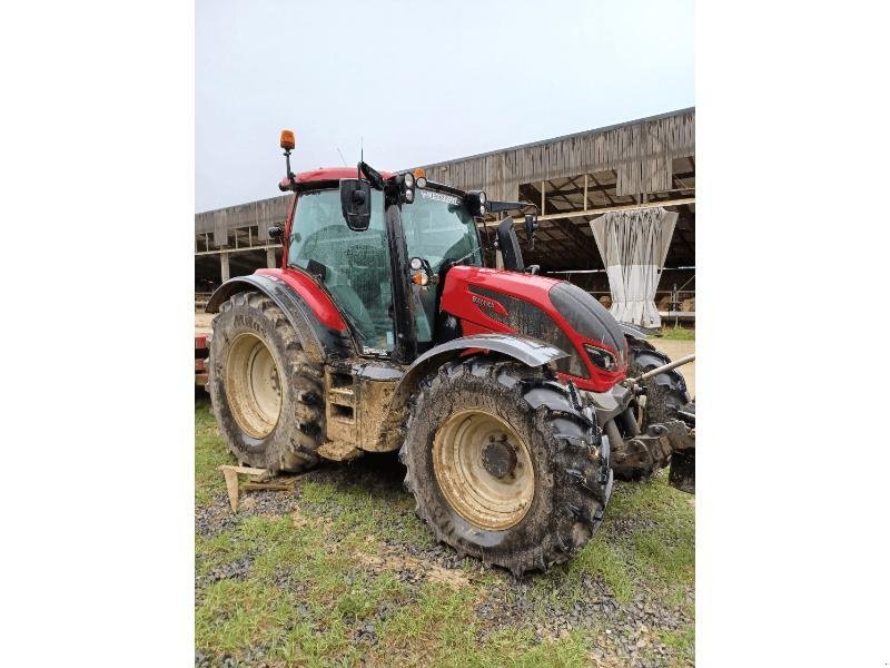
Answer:
[(491, 355), (448, 362), (422, 382), (399, 459), (437, 540), (517, 577), (590, 540), (612, 471), (595, 412), (574, 396), (550, 371)]

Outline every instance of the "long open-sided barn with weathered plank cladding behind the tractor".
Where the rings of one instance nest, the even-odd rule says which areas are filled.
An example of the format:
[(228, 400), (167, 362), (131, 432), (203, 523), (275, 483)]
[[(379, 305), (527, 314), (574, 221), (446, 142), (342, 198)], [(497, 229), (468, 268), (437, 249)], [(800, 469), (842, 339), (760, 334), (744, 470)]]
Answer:
[[(526, 264), (623, 304), (623, 320), (694, 318), (694, 108), (421, 167), (433, 181), (537, 205), (533, 247), (517, 226)], [(284, 222), (288, 199), (196, 214), (196, 292), (276, 266), (280, 245), (266, 229)], [(657, 313), (643, 303), (653, 301)]]

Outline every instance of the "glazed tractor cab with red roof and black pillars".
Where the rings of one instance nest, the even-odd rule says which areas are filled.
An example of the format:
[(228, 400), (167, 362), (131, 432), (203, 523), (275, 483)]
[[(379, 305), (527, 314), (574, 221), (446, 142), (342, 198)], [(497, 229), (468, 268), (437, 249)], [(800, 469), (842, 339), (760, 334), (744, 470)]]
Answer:
[(485, 195), (479, 204), (478, 194), (417, 174), (380, 174), (360, 163), (356, 170), (289, 174), (281, 184), (297, 193), (286, 267), (328, 291), (359, 354), (403, 363), (435, 343), (441, 276), (456, 264), (483, 264), (475, 216)]

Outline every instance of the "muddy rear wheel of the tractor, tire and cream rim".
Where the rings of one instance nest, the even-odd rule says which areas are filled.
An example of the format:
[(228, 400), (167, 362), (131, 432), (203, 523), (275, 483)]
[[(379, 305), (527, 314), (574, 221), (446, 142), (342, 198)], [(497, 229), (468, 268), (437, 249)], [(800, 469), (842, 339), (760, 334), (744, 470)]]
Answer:
[(273, 473), (318, 462), (324, 370), (270, 298), (243, 292), (221, 305), (208, 371), (214, 415), (239, 462)]

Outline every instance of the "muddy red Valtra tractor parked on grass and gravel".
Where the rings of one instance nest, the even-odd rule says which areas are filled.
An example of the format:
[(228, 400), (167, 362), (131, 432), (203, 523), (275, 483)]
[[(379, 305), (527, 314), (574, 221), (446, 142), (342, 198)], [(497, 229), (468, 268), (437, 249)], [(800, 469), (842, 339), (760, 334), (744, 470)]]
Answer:
[[(295, 175), (293, 134), (281, 147), (281, 268), (207, 305), (207, 390), (240, 462), (300, 471), (398, 450), (436, 539), (516, 574), (590, 540), (613, 474), (673, 460), (672, 483), (692, 490), (694, 404), (670, 360), (525, 267), (512, 218), (497, 227), (505, 269), (484, 266), (495, 249), (476, 220), (533, 205), (364, 161)], [(525, 225), (533, 237), (536, 216)]]

